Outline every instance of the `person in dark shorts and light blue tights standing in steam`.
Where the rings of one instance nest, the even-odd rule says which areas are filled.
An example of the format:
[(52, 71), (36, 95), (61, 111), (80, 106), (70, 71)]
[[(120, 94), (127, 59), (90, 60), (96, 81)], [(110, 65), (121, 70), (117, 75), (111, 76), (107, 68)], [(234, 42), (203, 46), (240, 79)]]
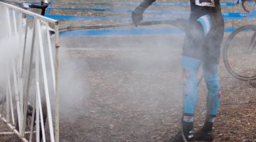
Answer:
[[(144, 0), (134, 11), (132, 21), (138, 26), (144, 11), (156, 0)], [(191, 14), (183, 42), (183, 115), (181, 132), (170, 141), (213, 141), (213, 123), (220, 106), (218, 65), (220, 43), (223, 40), (224, 20), (220, 0), (190, 0)], [(245, 9), (245, 7), (243, 6)], [(245, 9), (246, 11), (247, 9)], [(197, 79), (199, 67), (203, 67), (208, 94), (206, 120), (203, 127), (193, 133), (193, 114), (197, 102)]]

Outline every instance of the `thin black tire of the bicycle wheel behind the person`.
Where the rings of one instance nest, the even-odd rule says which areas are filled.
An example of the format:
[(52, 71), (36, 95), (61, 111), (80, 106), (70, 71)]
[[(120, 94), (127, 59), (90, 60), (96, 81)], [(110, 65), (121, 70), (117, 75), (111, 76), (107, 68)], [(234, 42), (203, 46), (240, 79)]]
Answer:
[[(241, 26), (240, 28), (237, 28), (233, 33), (231, 33), (228, 36), (227, 41), (225, 42), (225, 46), (223, 48), (223, 61), (224, 61), (224, 65), (226, 67), (226, 69), (228, 70), (228, 72), (233, 75), (233, 77), (239, 79), (239, 80), (255, 80), (256, 79), (256, 72), (253, 72), (253, 75), (242, 75), (241, 72), (236, 71), (234, 68), (230, 65), (230, 62), (228, 60), (228, 50), (230, 50), (231, 48), (233, 48), (233, 42), (238, 42), (237, 40), (235, 40), (235, 38), (238, 38), (239, 34), (242, 32), (246, 32), (246, 31), (253, 31), (253, 35), (252, 38), (250, 39), (250, 43), (248, 47), (245, 47), (245, 50), (252, 48), (252, 50), (255, 48), (255, 43), (256, 43), (256, 26), (254, 25), (247, 25), (247, 26)], [(254, 37), (253, 37), (254, 36)], [(252, 46), (250, 46), (252, 45)], [(240, 45), (242, 47), (242, 45)], [(243, 48), (243, 47), (242, 47)], [(236, 57), (238, 58), (238, 57)], [(244, 69), (242, 69), (244, 70)]]

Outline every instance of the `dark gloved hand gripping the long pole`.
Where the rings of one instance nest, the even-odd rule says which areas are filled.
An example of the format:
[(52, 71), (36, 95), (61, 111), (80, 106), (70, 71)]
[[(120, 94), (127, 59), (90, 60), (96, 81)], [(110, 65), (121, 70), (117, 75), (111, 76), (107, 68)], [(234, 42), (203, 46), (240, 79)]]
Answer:
[(132, 21), (135, 26), (138, 26), (143, 20), (143, 13), (146, 10), (143, 6), (138, 6), (134, 11), (132, 11)]

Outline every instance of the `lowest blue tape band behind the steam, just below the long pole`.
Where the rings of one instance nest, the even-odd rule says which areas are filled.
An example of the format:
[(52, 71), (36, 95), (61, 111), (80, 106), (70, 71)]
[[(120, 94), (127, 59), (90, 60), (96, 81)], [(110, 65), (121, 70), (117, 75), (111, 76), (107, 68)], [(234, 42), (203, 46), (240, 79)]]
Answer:
[[(225, 28), (225, 32), (233, 32), (235, 28)], [(152, 34), (178, 34), (184, 33), (178, 28), (160, 28), (160, 29), (129, 29), (129, 30), (84, 30), (84, 31), (66, 31), (60, 33), (60, 36), (92, 36), (92, 35), (152, 35)]]

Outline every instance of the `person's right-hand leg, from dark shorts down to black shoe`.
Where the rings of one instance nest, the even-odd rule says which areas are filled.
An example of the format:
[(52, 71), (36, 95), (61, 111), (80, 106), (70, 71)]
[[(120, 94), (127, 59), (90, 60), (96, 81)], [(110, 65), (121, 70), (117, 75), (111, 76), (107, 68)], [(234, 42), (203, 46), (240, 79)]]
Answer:
[(215, 19), (212, 23), (212, 29), (208, 33), (203, 43), (203, 74), (208, 88), (207, 95), (207, 113), (203, 128), (195, 133), (198, 141), (213, 141), (213, 123), (220, 106), (220, 85), (218, 79), (218, 62), (220, 58), (220, 43), (223, 39), (224, 21), (220, 9), (210, 16)]

